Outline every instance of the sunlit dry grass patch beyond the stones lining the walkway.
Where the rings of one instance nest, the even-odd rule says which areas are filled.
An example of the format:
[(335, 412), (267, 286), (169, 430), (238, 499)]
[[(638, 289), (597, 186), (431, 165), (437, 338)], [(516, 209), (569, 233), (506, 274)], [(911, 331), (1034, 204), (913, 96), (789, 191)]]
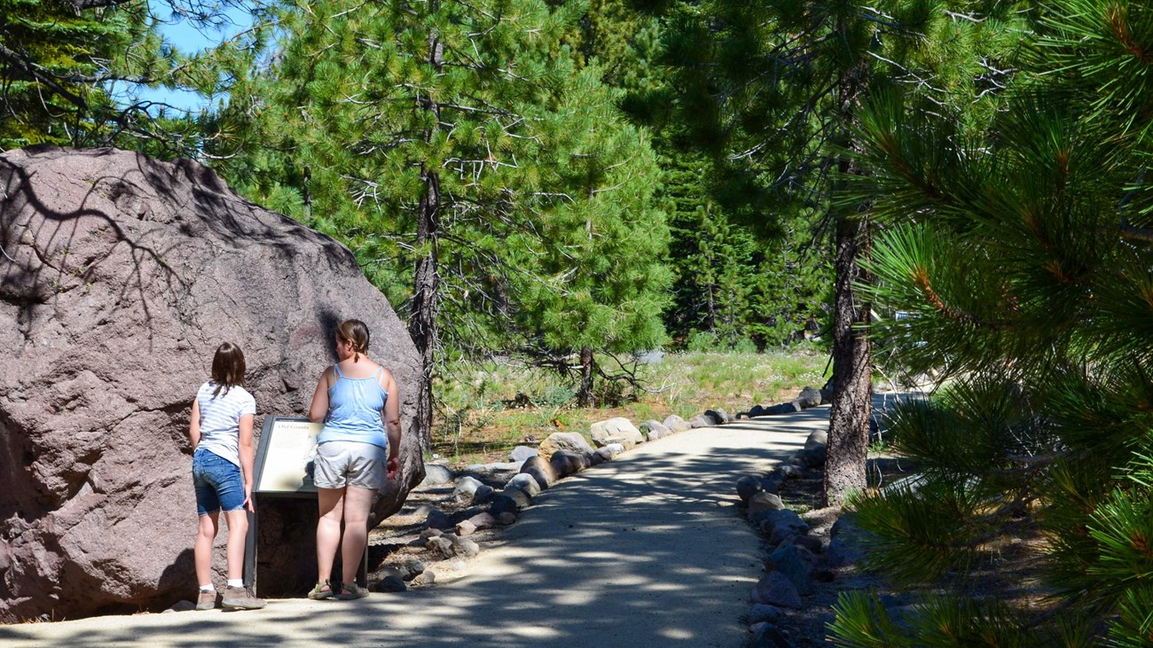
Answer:
[(437, 379), (432, 452), (457, 466), (505, 461), (517, 445), (535, 445), (556, 431), (587, 437), (593, 423), (613, 416), (639, 425), (709, 408), (736, 415), (823, 385), (827, 362), (828, 355), (807, 349), (666, 354), (638, 368), (642, 389), (628, 387), (615, 402), (591, 408), (574, 407), (573, 385), (557, 374), (517, 359), (460, 362)]

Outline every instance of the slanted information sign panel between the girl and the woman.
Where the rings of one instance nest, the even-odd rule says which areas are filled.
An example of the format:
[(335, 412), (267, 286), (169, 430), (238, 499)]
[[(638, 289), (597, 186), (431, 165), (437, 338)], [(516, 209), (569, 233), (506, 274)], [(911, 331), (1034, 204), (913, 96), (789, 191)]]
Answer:
[(323, 423), (308, 419), (265, 416), (256, 453), (253, 492), (315, 495), (312, 459)]

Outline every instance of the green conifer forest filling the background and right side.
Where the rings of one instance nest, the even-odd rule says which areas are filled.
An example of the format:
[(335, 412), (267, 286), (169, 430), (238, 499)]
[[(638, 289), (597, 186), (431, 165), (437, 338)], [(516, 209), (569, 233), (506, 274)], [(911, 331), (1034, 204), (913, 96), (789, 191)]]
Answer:
[[(826, 502), (936, 592), (845, 594), (831, 642), (1153, 646), (1148, 3), (0, 0), (0, 151), (191, 158), (345, 243), (424, 434), (461, 359), (589, 406), (653, 349), (822, 345)], [(883, 493), (882, 367), (940, 377)], [(967, 578), (1019, 537), (1030, 609)]]

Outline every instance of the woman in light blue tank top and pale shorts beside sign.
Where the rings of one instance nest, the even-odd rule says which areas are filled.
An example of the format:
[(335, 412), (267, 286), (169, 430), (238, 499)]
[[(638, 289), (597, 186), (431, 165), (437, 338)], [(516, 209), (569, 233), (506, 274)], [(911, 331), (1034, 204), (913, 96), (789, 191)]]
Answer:
[[(362, 598), (356, 567), (368, 543), (372, 499), (400, 469), (400, 395), (392, 372), (368, 357), (368, 326), (347, 319), (337, 327), (338, 362), (324, 370), (309, 419), (324, 423), (317, 439), (314, 481), (319, 495), (316, 587), (309, 598)], [(341, 538), (340, 523), (345, 532)], [(340, 547), (340, 592), (331, 583)]]

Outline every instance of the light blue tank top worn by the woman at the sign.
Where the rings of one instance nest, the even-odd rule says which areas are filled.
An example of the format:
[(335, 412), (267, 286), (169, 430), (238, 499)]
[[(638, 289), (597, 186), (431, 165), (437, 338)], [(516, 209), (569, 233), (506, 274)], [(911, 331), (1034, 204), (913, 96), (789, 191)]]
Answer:
[(389, 450), (389, 436), (380, 419), (384, 402), (389, 400), (389, 392), (380, 386), (384, 368), (368, 378), (342, 376), (336, 364), (332, 370), (337, 382), (329, 387), (329, 414), (324, 417), (324, 429), (316, 443), (352, 440)]

